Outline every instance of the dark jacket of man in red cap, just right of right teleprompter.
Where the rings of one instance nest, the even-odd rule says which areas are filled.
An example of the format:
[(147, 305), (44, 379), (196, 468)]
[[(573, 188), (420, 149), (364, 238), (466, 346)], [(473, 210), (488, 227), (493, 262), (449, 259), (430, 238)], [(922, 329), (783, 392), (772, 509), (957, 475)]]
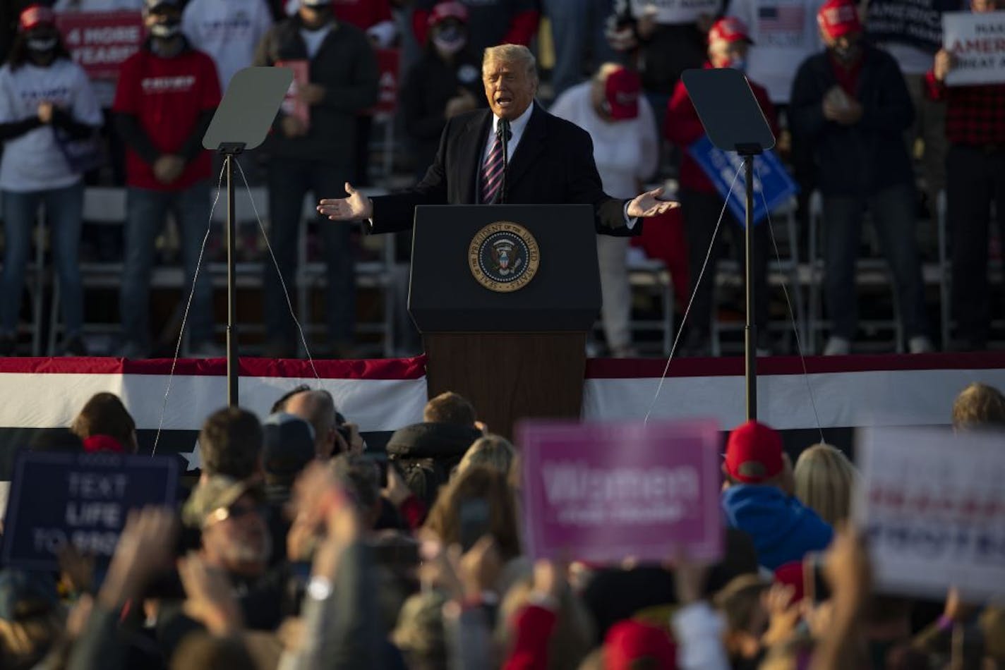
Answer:
[(792, 84), (789, 123), (812, 152), (825, 196), (869, 196), (914, 180), (903, 132), (914, 123), (915, 107), (903, 75), (885, 51), (868, 44), (863, 49), (857, 124), (841, 126), (823, 117), (824, 95), (838, 85), (826, 51), (803, 61)]

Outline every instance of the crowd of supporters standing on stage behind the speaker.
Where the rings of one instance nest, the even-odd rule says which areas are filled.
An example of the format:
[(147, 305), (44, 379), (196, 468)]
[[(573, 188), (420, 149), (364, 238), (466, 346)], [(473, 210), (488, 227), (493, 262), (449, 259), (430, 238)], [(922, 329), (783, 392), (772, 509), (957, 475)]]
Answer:
[[(680, 22), (683, 5), (644, 0), (4, 3), (0, 354), (24, 351), (18, 338), (22, 293), (40, 211), (51, 230), (60, 287), (63, 338), (57, 353), (80, 355), (87, 349), (81, 239), (85, 253), (96, 247), (105, 260), (124, 262), (121, 338), (114, 352), (131, 358), (154, 353), (148, 314), (151, 268), (163, 246), (158, 236), (170, 213), (186, 285), (192, 286), (220, 167), (202, 149), (201, 138), (233, 74), (258, 64), (297, 72), (295, 94), (266, 144), (241, 157), (249, 181), (263, 185), (269, 197), (275, 263), (270, 258), (262, 263), (262, 351), (296, 355), (299, 343), (283, 286), (291, 289), (297, 276), (304, 198), (340, 197), (346, 182), (371, 181), (380, 54), (395, 49), (400, 56), (397, 127), (406, 149), (399, 152), (405, 157), (401, 172), (417, 177), (447, 119), (485, 105), (481, 51), (501, 42), (536, 49), (547, 69), (539, 101), (554, 103), (556, 114), (590, 132), (609, 193), (635, 193), (643, 183), (668, 179), (676, 183), (681, 211), (649, 226), (653, 230), (644, 234), (642, 246), (670, 267), (681, 307), (694, 293), (682, 353), (709, 354), (717, 311), (714, 276), (700, 285), (697, 276), (723, 201), (689, 154), (703, 131), (680, 81), (683, 70), (702, 66), (747, 73), (779, 139), (778, 152), (800, 187), (803, 229), (809, 195), (822, 196), (823, 295), (831, 324), (824, 352), (847, 354), (860, 336), (855, 268), (866, 213), (888, 261), (903, 350), (930, 352), (937, 344), (946, 350), (985, 349), (992, 316), (1001, 307), (987, 270), (1001, 255), (1005, 237), (1005, 117), (997, 114), (1005, 85), (947, 86), (955, 58), (940, 48), (940, 31), (933, 28), (923, 40), (884, 32), (878, 22), (870, 23), (868, 2), (695, 4), (707, 11)], [(931, 27), (943, 12), (995, 11), (997, 0), (922, 5), (918, 11), (927, 12)], [(148, 37), (115, 79), (88, 81), (57, 25), (72, 12), (103, 11), (142, 14)], [(95, 163), (97, 155), (103, 164)], [(84, 184), (126, 187), (118, 245), (108, 247), (97, 239), (105, 231), (83, 225)], [(919, 248), (920, 238), (932, 237), (921, 226), (937, 215), (943, 192), (955, 321), (948, 342), (934, 333)], [(925, 211), (928, 217), (919, 214)], [(991, 225), (995, 211), (998, 226)], [(731, 214), (727, 219), (721, 237), (739, 239), (731, 235), (740, 231), (738, 222)], [(327, 264), (326, 351), (352, 356), (358, 242), (349, 227), (314, 223), (317, 233), (309, 230), (322, 242)], [(682, 232), (667, 236), (666, 229)], [(261, 259), (255, 234), (244, 236), (242, 252)], [(766, 226), (759, 226), (755, 237), (755, 306), (758, 321), (767, 323), (779, 318), (769, 309), (767, 288), (767, 261), (774, 251)], [(627, 327), (632, 306), (627, 244), (598, 241), (605, 340), (614, 356), (635, 353)], [(194, 285), (189, 325), (191, 355), (219, 354), (205, 273)], [(780, 347), (763, 328), (759, 351)]]

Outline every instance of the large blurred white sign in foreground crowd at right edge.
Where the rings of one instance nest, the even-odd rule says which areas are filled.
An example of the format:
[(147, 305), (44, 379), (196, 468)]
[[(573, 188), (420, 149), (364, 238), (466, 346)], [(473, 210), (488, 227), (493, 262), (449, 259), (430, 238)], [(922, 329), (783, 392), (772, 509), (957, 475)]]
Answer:
[(858, 434), (854, 517), (881, 593), (1005, 596), (1005, 437), (938, 428)]

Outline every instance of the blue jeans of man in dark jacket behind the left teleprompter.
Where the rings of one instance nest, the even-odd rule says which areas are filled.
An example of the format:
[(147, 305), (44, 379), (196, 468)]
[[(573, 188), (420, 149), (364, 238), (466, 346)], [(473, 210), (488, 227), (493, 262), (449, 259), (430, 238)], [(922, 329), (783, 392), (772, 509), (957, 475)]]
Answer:
[[(352, 169), (347, 167), (285, 157), (272, 158), (268, 163), (268, 209), (272, 221), (268, 241), (291, 300), (295, 300), (296, 242), (304, 198), (308, 192), (313, 193), (316, 200), (345, 197), (344, 185), (352, 178), (351, 173)], [(351, 346), (356, 319), (356, 271), (350, 239), (352, 227), (320, 216), (316, 218), (328, 260), (325, 321), (329, 337), (336, 347)], [(297, 341), (293, 319), (289, 315), (279, 275), (270, 260), (266, 258), (262, 278), (265, 332), (270, 343), (294, 348)]]

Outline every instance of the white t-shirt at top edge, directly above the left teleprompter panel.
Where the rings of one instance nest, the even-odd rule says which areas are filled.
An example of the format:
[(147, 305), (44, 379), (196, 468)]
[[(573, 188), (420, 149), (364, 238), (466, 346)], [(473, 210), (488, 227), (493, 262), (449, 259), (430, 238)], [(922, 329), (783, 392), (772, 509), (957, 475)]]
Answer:
[(192, 46), (216, 63), (226, 90), (237, 70), (254, 61), (254, 50), (272, 25), (264, 0), (191, 0), (182, 14), (182, 30)]

